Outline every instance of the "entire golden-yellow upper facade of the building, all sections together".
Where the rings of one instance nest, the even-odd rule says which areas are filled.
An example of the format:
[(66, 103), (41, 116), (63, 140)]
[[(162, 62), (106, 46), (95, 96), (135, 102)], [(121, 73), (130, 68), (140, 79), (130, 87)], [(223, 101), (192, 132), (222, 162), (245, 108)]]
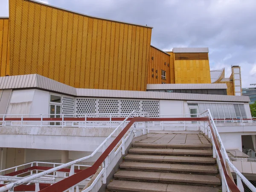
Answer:
[[(73, 87), (142, 91), (146, 84), (211, 83), (208, 53), (163, 52), (150, 46), (151, 30), (9, 0), (9, 19), (0, 18), (0, 76), (37, 73)], [(231, 76), (221, 81), (223, 72), (215, 82), (226, 83), (228, 95)]]

